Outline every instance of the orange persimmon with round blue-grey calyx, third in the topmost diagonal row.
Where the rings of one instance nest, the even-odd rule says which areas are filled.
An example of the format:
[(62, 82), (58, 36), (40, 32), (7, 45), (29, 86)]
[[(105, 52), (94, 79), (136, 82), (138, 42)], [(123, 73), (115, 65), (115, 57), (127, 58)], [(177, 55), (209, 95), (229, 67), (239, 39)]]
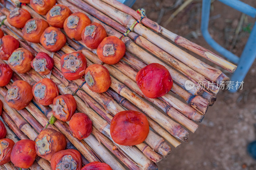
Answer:
[(75, 12), (69, 15), (64, 21), (64, 31), (72, 40), (82, 40), (81, 34), (86, 26), (91, 24), (90, 19), (82, 12)]

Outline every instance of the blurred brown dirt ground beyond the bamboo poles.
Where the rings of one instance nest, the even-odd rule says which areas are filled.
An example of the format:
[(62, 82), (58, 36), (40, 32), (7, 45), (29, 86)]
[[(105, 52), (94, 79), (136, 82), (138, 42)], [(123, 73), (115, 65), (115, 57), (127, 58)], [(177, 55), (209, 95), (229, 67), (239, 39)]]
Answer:
[[(145, 8), (148, 18), (165, 25), (165, 21), (182, 2), (183, 0), (137, 0), (132, 8)], [(256, 7), (255, 0), (243, 2)], [(200, 33), (201, 3), (200, 0), (194, 0), (165, 28), (214, 51)], [(244, 22), (236, 35), (241, 18)], [(209, 32), (215, 41), (237, 56), (241, 55), (254, 22), (255, 19), (244, 17), (241, 12), (217, 0), (212, 2)], [(203, 58), (200, 59), (205, 61)], [(216, 67), (212, 63), (207, 63)], [(227, 71), (222, 71), (231, 76)], [(171, 155), (158, 163), (159, 169), (256, 169), (256, 160), (249, 157), (246, 152), (247, 144), (256, 140), (255, 80), (256, 62), (244, 80), (243, 89), (236, 93), (220, 91), (217, 101), (209, 107), (199, 128), (194, 134), (189, 135), (189, 142), (182, 143), (177, 148), (172, 147)]]

